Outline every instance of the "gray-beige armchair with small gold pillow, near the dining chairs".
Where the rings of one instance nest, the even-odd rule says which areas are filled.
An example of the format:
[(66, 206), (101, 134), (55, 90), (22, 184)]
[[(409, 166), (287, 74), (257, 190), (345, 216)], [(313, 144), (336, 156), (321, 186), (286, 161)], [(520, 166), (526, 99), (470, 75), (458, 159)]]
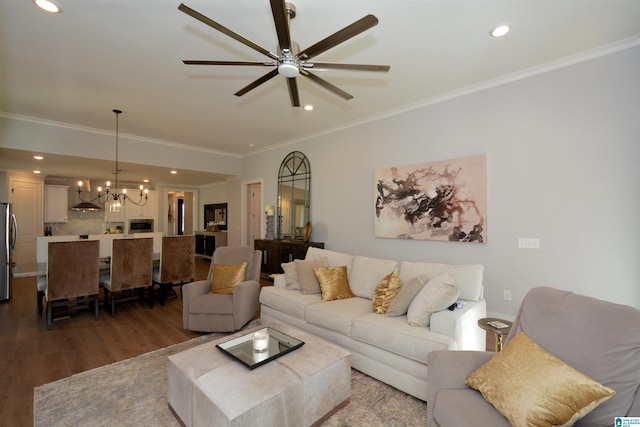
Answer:
[[(233, 287), (233, 294), (211, 293), (211, 278), (216, 264), (246, 262), (245, 281)], [(182, 288), (182, 323), (185, 329), (198, 332), (233, 332), (256, 317), (260, 297), (262, 251), (250, 246), (222, 246), (211, 259), (207, 280), (189, 283)]]

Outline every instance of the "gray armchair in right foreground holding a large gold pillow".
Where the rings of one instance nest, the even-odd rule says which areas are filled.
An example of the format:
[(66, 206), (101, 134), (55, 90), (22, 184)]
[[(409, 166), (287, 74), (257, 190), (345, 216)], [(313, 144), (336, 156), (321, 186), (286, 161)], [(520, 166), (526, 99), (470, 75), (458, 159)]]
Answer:
[[(616, 394), (576, 422), (612, 425), (614, 417), (640, 416), (640, 310), (546, 287), (527, 293), (509, 342), (523, 331), (540, 347)], [(433, 351), (428, 356), (427, 420), (430, 427), (509, 423), (464, 383), (494, 353)]]

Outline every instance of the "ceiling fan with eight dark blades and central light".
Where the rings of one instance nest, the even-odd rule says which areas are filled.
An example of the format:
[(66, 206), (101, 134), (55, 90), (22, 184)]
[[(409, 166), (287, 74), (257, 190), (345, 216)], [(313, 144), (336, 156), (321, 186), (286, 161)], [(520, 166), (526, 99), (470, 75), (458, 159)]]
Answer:
[(311, 73), (310, 70), (322, 70), (322, 69), (339, 69), (339, 70), (357, 70), (357, 71), (389, 71), (388, 65), (365, 65), (365, 64), (342, 64), (335, 62), (315, 62), (309, 61), (311, 58), (337, 46), (338, 44), (349, 40), (352, 37), (376, 26), (378, 24), (378, 18), (373, 15), (367, 15), (362, 19), (354, 22), (351, 25), (333, 33), (332, 35), (320, 40), (316, 44), (297, 51), (297, 46), (291, 41), (291, 34), (289, 32), (289, 20), (296, 16), (295, 6), (291, 3), (285, 3), (284, 0), (270, 0), (271, 13), (273, 14), (273, 21), (276, 27), (276, 33), (278, 35), (278, 54), (272, 53), (267, 49), (255, 44), (251, 40), (242, 37), (227, 27), (215, 22), (214, 20), (202, 15), (201, 13), (189, 8), (184, 4), (180, 4), (178, 9), (187, 15), (197, 19), (198, 21), (209, 25), (210, 27), (220, 31), (223, 34), (239, 41), (240, 43), (256, 50), (263, 55), (271, 58), (270, 61), (182, 61), (187, 65), (249, 65), (249, 66), (264, 66), (273, 68), (264, 76), (251, 82), (247, 86), (240, 89), (235, 93), (236, 96), (242, 96), (247, 92), (255, 89), (261, 84), (271, 80), (278, 74), (282, 74), (287, 78), (287, 86), (289, 88), (289, 97), (291, 98), (291, 106), (300, 106), (300, 96), (298, 94), (298, 85), (296, 83), (297, 76), (308, 77), (312, 82), (319, 84), (325, 89), (333, 92), (334, 94), (349, 100), (353, 98), (352, 95), (338, 88), (337, 86), (329, 83), (328, 81), (320, 78), (316, 74)]

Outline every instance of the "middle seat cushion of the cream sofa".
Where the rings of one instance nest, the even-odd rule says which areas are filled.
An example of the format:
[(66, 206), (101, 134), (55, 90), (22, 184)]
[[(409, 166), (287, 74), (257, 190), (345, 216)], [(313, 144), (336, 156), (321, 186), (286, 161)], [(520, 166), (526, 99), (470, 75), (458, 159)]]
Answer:
[(353, 320), (370, 313), (371, 300), (347, 298), (307, 306), (306, 321), (350, 337)]

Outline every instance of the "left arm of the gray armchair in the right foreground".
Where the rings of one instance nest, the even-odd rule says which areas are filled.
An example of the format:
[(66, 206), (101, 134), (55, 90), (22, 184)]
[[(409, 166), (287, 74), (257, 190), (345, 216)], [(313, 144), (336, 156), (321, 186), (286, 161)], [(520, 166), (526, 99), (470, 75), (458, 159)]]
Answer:
[(495, 353), (436, 350), (427, 356), (427, 425), (433, 425), (433, 408), (439, 390), (466, 389), (464, 380)]

